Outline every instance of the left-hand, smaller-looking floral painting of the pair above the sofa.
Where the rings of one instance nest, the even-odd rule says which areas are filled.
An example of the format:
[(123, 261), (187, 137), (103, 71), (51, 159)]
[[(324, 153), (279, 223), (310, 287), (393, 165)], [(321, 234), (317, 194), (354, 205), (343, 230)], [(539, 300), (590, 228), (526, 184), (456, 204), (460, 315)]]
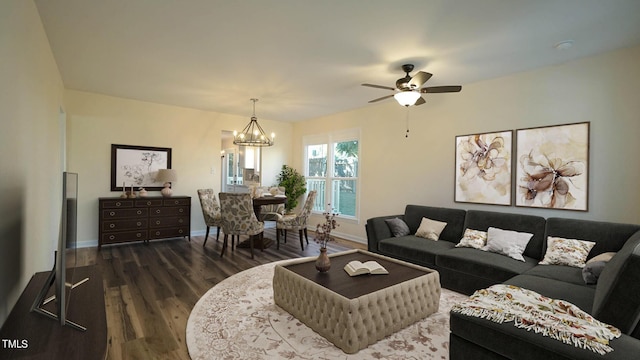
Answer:
[(456, 136), (455, 202), (511, 205), (513, 131)]

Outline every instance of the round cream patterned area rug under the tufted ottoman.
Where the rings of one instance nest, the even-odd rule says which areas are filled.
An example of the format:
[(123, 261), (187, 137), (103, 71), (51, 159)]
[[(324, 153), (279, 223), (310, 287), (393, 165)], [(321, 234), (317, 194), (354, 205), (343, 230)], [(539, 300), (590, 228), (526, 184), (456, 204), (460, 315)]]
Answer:
[(273, 301), (280, 261), (233, 275), (207, 291), (187, 322), (187, 348), (200, 359), (448, 359), (449, 310), (468, 297), (442, 289), (438, 312), (356, 354), (346, 354)]

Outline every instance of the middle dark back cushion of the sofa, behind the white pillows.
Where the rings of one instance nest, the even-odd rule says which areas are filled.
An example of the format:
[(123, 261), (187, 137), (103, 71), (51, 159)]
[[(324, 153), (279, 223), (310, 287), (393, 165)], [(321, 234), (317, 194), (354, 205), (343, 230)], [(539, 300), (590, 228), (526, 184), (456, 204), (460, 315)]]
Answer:
[(465, 220), (465, 228), (487, 231), (489, 227), (513, 230), (533, 234), (523, 255), (542, 260), (542, 248), (545, 240), (546, 220), (540, 216), (499, 213), (492, 211), (469, 210)]

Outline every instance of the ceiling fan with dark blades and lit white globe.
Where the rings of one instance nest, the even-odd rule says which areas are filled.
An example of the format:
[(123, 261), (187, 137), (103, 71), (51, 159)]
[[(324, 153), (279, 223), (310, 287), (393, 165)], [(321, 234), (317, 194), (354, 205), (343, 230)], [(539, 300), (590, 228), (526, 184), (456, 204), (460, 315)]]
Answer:
[(374, 84), (362, 84), (362, 86), (395, 91), (395, 94), (386, 95), (377, 99), (373, 99), (369, 102), (373, 103), (380, 100), (388, 99), (393, 96), (396, 101), (398, 101), (398, 103), (403, 106), (422, 105), (425, 103), (425, 101), (422, 98), (421, 94), (459, 92), (460, 90), (462, 90), (462, 86), (460, 85), (429, 86), (421, 88), (421, 86), (431, 78), (432, 74), (424, 71), (418, 71), (415, 76), (409, 76), (409, 73), (413, 71), (413, 64), (402, 65), (402, 71), (407, 73), (407, 75), (396, 81), (395, 88)]

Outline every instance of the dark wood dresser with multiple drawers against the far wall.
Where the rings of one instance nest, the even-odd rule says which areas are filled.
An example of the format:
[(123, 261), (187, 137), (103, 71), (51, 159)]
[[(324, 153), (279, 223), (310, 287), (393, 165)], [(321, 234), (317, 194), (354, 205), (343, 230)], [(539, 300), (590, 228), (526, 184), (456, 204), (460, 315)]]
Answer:
[(191, 197), (144, 197), (98, 199), (100, 234), (105, 244), (149, 241), (172, 237), (191, 240)]

